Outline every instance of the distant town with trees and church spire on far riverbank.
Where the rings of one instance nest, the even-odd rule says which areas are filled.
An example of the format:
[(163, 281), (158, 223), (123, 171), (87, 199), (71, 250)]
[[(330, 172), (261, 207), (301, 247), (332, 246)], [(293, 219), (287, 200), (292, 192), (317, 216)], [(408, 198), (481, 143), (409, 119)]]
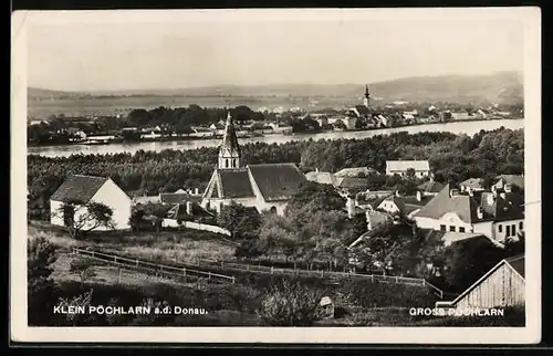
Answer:
[[(361, 93), (359, 93), (361, 94)], [(463, 121), (522, 118), (522, 105), (488, 106), (455, 103), (410, 103), (396, 101), (373, 105), (368, 86), (363, 101), (342, 109), (309, 111), (302, 107), (258, 107), (240, 105), (231, 109), (237, 136), (292, 135), (304, 133), (369, 130), (410, 125)], [(50, 115), (28, 121), (29, 145), (107, 145), (122, 142), (220, 139), (227, 108), (164, 107), (149, 111), (118, 111), (112, 116)]]

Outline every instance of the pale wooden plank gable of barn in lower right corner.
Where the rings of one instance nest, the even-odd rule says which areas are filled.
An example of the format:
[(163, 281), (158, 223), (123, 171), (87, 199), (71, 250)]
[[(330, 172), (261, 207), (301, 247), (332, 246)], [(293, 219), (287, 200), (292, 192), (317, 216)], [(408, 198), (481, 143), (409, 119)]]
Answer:
[(436, 302), (436, 307), (459, 311), (524, 306), (524, 255), (504, 259), (451, 302)]

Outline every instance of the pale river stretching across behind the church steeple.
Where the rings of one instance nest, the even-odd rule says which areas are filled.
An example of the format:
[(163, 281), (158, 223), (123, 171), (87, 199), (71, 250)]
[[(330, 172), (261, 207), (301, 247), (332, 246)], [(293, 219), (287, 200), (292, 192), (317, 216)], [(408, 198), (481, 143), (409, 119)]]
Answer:
[[(510, 129), (519, 129), (524, 127), (524, 119), (490, 119), (480, 122), (456, 122), (446, 124), (426, 124), (414, 125), (384, 129), (373, 129), (364, 132), (330, 132), (321, 134), (296, 134), (293, 136), (284, 135), (267, 135), (264, 137), (241, 138), (241, 144), (248, 143), (265, 143), (265, 144), (284, 144), (291, 140), (309, 140), (309, 139), (340, 139), (340, 138), (367, 138), (375, 135), (388, 135), (392, 133), (407, 132), (409, 134), (424, 132), (450, 132), (453, 134), (474, 135), (483, 130), (492, 130), (499, 127)], [(29, 155), (42, 155), (46, 157), (66, 157), (74, 154), (92, 155), (92, 154), (119, 154), (137, 150), (155, 150), (164, 149), (195, 149), (200, 147), (217, 147), (220, 142), (218, 139), (188, 139), (188, 140), (171, 140), (158, 143), (128, 143), (128, 144), (111, 144), (102, 146), (87, 145), (66, 145), (66, 146), (38, 146), (29, 147)]]

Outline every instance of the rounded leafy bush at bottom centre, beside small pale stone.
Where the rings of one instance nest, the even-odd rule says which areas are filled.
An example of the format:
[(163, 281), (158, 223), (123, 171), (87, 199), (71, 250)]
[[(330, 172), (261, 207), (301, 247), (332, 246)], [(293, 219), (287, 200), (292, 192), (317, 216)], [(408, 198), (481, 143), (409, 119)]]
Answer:
[(284, 282), (263, 299), (258, 314), (271, 326), (311, 326), (321, 317), (321, 297), (320, 292)]

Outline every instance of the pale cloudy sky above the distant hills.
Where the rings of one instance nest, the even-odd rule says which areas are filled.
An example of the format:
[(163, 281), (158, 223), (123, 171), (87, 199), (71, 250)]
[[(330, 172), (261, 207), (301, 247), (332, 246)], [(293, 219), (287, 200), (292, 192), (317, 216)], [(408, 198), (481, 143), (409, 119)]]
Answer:
[(520, 17), (425, 10), (36, 12), (25, 19), (28, 86), (131, 91), (522, 72)]

